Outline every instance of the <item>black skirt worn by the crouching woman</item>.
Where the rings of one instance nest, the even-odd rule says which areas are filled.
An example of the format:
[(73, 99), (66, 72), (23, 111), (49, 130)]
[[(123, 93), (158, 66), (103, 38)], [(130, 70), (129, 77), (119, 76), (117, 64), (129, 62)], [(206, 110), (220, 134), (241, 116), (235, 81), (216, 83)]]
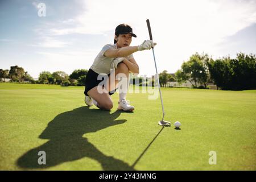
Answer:
[[(89, 69), (89, 71), (87, 72), (86, 78), (85, 78), (85, 90), (84, 90), (84, 94), (85, 96), (88, 96), (88, 91), (92, 88), (94, 88), (95, 86), (98, 86), (98, 84), (100, 84), (100, 82), (102, 82), (103, 80), (106, 80), (105, 77), (102, 78), (102, 80), (98, 80), (98, 73), (94, 72), (92, 69)], [(109, 73), (110, 75), (110, 73)], [(108, 76), (109, 76), (108, 75)], [(117, 90), (117, 89), (115, 89)], [(114, 92), (115, 92), (114, 90)], [(114, 94), (114, 92), (109, 92), (109, 95), (111, 96), (112, 94)]]

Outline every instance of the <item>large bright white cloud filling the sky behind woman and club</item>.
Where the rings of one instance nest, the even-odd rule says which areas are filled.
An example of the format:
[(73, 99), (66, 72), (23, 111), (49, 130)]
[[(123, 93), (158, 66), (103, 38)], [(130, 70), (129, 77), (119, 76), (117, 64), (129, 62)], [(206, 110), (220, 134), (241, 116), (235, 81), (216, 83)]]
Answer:
[[(84, 13), (64, 20), (62, 26), (49, 29), (49, 35), (98, 34), (109, 35), (113, 42), (114, 29), (120, 23), (130, 24), (138, 38), (131, 46), (148, 39), (146, 19), (150, 19), (159, 72), (175, 72), (184, 60), (195, 52), (219, 55), (218, 46), (226, 36), (256, 22), (256, 2), (240, 0), (180, 0), (180, 1), (84, 1)], [(51, 42), (51, 43), (49, 43)], [(64, 47), (67, 44), (48, 41), (44, 46)], [(103, 46), (98, 45), (99, 47)], [(92, 52), (93, 57), (97, 51)], [(228, 55), (229, 52), (226, 52)], [(151, 51), (134, 54), (141, 73), (155, 72)], [(91, 63), (93, 60), (91, 60)]]

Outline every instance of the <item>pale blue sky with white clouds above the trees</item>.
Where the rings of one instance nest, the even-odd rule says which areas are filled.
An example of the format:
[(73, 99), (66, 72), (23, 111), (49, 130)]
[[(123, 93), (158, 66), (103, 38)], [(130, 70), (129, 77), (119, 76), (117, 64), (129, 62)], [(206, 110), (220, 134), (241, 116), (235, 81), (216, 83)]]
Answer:
[[(0, 68), (18, 65), (34, 78), (89, 69), (101, 48), (113, 44), (118, 24), (133, 27), (130, 46), (149, 39), (146, 19), (158, 72), (175, 73), (196, 52), (213, 59), (256, 53), (256, 0), (1, 0)], [(155, 74), (151, 50), (133, 55), (139, 75)]]

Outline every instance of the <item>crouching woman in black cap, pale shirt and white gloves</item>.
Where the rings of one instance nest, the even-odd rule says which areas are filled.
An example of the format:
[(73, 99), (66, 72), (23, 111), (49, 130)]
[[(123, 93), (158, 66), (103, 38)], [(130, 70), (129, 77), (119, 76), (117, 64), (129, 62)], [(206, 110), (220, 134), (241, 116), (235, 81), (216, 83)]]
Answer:
[[(127, 24), (119, 24), (115, 28), (114, 44), (106, 44), (98, 53), (85, 79), (86, 105), (94, 104), (103, 110), (112, 109), (113, 101), (110, 96), (118, 89), (118, 85), (120, 85), (118, 80), (120, 80), (120, 82), (122, 81), (122, 90), (119, 88), (118, 110), (134, 110), (134, 106), (126, 101), (129, 72), (139, 73), (139, 66), (133, 53), (151, 49), (156, 43), (152, 40), (144, 40), (139, 46), (130, 46), (132, 37), (137, 37), (133, 34), (133, 29)], [(101, 84), (102, 78), (105, 81), (103, 85)]]

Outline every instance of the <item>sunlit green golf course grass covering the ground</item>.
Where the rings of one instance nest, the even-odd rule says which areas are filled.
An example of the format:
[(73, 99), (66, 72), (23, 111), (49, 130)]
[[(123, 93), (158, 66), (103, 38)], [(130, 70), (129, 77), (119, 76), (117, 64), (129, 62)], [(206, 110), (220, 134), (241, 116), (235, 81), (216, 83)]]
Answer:
[[(180, 121), (181, 130), (157, 125), (160, 98), (129, 94), (135, 110), (125, 113), (116, 110), (117, 93), (114, 108), (102, 111), (86, 107), (83, 92), (0, 84), (0, 169), (256, 169), (256, 90), (162, 88), (164, 119)], [(38, 164), (39, 151), (47, 165)], [(217, 152), (216, 165), (208, 163), (209, 151)]]

